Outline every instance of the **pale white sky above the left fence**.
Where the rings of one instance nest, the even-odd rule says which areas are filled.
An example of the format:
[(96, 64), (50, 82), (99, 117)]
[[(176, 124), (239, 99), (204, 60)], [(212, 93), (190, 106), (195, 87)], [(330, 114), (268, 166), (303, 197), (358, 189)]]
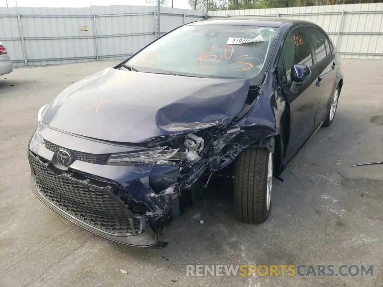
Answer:
[[(173, 0), (174, 8), (190, 9), (187, 0)], [(15, 7), (16, 0), (0, 0), (0, 7)], [(169, 0), (170, 2), (170, 0)], [(107, 4), (106, 4), (107, 3)], [(88, 7), (106, 5), (149, 5), (145, 0), (17, 0), (18, 7)], [(169, 6), (168, 6), (169, 7)]]

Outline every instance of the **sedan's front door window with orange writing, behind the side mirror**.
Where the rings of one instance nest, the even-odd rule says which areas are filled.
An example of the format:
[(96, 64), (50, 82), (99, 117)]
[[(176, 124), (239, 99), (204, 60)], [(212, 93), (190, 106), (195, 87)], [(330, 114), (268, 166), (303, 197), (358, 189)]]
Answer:
[[(285, 60), (286, 83), (291, 82), (291, 68), (293, 65), (313, 66), (313, 57), (309, 42), (304, 34), (303, 28), (297, 28), (291, 31), (283, 45), (283, 59)], [(282, 61), (282, 57), (280, 62)], [(278, 65), (279, 67), (280, 65)]]

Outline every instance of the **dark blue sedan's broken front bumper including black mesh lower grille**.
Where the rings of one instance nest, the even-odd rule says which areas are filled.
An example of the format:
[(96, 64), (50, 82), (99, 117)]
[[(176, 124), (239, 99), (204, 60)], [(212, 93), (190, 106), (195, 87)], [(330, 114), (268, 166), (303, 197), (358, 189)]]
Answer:
[[(108, 240), (137, 247), (165, 247), (167, 243), (159, 241), (156, 223), (170, 213), (170, 199), (177, 189), (173, 193), (167, 189), (166, 194), (154, 192), (148, 185), (152, 166), (101, 165), (92, 163), (97, 158), (89, 158), (91, 153), (82, 153), (87, 157), (75, 160), (66, 170), (59, 169), (55, 153), (43, 136), (62, 142), (62, 147), (79, 140), (81, 147), (86, 141), (93, 150), (89, 140), (60, 134), (62, 140), (57, 141), (57, 131), (42, 127), (29, 141), (34, 194), (57, 214)], [(137, 211), (133, 205), (146, 210)]]

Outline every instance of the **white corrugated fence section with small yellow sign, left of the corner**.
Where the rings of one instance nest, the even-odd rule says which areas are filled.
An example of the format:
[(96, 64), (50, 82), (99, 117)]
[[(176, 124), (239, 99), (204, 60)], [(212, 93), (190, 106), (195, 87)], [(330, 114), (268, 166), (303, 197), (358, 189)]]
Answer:
[[(126, 58), (155, 39), (156, 11), (152, 6), (0, 8), (0, 41), (15, 66)], [(205, 15), (161, 8), (161, 34)]]

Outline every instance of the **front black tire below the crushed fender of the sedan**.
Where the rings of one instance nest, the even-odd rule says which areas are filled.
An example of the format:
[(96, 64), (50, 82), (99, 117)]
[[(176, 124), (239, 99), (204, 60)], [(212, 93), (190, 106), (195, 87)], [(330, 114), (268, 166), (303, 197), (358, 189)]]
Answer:
[[(267, 209), (267, 148), (247, 148), (234, 165), (234, 209), (237, 220), (261, 224), (271, 214), (271, 199)], [(271, 166), (272, 166), (271, 158)], [(271, 192), (270, 192), (271, 194)]]

